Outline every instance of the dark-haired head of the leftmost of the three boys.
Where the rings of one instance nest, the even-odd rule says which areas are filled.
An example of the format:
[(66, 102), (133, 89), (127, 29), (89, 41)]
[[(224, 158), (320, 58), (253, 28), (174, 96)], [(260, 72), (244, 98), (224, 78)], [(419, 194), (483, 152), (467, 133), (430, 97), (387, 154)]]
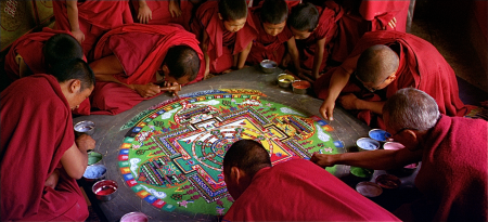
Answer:
[(227, 30), (235, 32), (246, 24), (247, 4), (245, 0), (219, 0), (219, 18)]

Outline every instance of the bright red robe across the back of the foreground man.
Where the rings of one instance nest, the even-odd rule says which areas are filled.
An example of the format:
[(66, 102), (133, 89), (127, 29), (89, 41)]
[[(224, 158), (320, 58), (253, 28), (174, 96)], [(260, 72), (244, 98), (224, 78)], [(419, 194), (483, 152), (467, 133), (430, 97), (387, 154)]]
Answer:
[(323, 168), (292, 159), (259, 170), (223, 221), (399, 220)]

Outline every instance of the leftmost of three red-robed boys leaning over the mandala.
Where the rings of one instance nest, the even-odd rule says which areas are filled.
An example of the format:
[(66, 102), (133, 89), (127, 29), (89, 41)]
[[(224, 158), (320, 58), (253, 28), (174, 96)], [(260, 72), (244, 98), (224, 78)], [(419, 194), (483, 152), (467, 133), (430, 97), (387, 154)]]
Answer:
[(191, 31), (205, 55), (205, 77), (244, 67), (257, 36), (247, 17), (245, 0), (207, 1), (198, 8)]

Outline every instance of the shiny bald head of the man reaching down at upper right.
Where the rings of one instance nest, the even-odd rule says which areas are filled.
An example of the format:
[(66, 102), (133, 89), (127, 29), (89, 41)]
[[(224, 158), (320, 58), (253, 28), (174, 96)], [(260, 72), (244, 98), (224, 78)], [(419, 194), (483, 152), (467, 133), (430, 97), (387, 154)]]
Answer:
[(396, 79), (400, 60), (384, 44), (368, 48), (358, 58), (356, 78), (370, 91), (386, 88)]

